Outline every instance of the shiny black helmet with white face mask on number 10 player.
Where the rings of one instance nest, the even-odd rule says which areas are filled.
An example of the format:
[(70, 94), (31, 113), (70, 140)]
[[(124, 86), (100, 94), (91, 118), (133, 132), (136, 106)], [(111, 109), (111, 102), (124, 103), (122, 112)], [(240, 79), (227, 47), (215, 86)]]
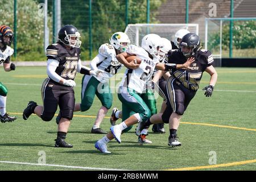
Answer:
[(77, 28), (72, 25), (65, 25), (64, 27), (60, 28), (58, 37), (60, 42), (66, 46), (79, 48), (82, 43), (79, 40), (81, 37), (80, 33), (77, 31)]

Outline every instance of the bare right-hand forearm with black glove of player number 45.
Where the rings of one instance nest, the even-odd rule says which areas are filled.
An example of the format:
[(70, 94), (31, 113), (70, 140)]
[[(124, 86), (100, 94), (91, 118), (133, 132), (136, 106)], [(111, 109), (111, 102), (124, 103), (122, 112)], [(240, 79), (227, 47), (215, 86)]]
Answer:
[(207, 67), (207, 69), (205, 69), (205, 71), (207, 73), (209, 73), (209, 75), (210, 75), (210, 82), (209, 82), (208, 86), (205, 86), (205, 88), (203, 88), (203, 90), (205, 90), (204, 95), (206, 97), (210, 97), (210, 96), (212, 96), (213, 88), (217, 82), (218, 75), (217, 75), (217, 72), (214, 69), (213, 65), (210, 65), (209, 67)]

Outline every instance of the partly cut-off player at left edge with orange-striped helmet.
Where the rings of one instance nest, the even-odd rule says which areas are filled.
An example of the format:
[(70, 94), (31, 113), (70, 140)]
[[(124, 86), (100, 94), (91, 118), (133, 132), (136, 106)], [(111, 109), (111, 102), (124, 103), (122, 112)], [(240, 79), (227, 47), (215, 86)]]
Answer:
[[(3, 69), (6, 72), (14, 71), (15, 64), (10, 63), (10, 57), (13, 55), (13, 48), (10, 47), (13, 42), (13, 31), (8, 26), (0, 26), (0, 64), (3, 63)], [(8, 89), (0, 82), (0, 119), (2, 123), (12, 122), (15, 116), (6, 113), (6, 98)]]

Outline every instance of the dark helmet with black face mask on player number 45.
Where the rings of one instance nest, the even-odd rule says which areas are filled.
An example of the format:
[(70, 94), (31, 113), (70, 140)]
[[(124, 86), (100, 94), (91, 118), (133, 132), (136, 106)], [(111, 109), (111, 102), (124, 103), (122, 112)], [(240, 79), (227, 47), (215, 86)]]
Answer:
[[(199, 46), (200, 46), (199, 36), (196, 34), (193, 34), (193, 33), (188, 33), (188, 34), (184, 35), (183, 38), (181, 39), (179, 49), (185, 57), (190, 57), (190, 56), (195, 55)], [(192, 49), (189, 52), (183, 52), (181, 47), (188, 47), (188, 48), (192, 48)]]

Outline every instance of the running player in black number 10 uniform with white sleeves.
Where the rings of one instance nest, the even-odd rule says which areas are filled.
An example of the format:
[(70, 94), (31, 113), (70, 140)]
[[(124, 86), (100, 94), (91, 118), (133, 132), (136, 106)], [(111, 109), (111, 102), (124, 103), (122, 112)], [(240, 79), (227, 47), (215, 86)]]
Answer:
[(84, 75), (98, 75), (98, 71), (81, 65), (80, 60), (80, 33), (72, 25), (63, 26), (58, 33), (58, 42), (46, 49), (47, 75), (42, 85), (43, 106), (34, 101), (28, 102), (23, 111), (23, 119), (27, 120), (35, 113), (43, 121), (51, 121), (60, 107), (61, 119), (58, 125), (55, 147), (73, 147), (65, 142), (70, 121), (73, 118), (75, 107), (75, 94), (73, 87), (76, 72)]

